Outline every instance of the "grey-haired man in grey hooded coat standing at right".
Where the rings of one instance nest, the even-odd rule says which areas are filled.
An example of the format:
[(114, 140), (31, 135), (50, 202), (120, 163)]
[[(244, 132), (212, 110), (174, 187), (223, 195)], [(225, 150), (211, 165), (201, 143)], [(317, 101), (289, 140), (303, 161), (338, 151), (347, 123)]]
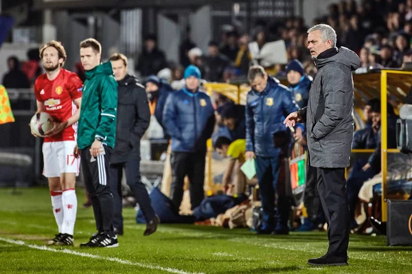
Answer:
[(310, 165), (317, 167), (319, 197), (328, 223), (328, 252), (308, 264), (342, 266), (347, 265), (350, 234), (345, 168), (350, 164), (354, 133), (352, 71), (361, 60), (350, 49), (335, 45), (336, 32), (330, 25), (308, 30), (308, 49), (318, 73), (308, 107), (290, 114), (284, 123), (294, 126), (306, 121)]

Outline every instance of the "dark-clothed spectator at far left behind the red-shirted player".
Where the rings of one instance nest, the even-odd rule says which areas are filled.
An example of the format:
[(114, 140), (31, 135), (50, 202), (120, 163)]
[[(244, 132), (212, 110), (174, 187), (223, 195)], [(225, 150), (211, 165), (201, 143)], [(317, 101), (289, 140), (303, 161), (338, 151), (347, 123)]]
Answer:
[(20, 62), (16, 56), (7, 59), (8, 73), (3, 76), (3, 86), (5, 88), (30, 88), (29, 79), (20, 69)]

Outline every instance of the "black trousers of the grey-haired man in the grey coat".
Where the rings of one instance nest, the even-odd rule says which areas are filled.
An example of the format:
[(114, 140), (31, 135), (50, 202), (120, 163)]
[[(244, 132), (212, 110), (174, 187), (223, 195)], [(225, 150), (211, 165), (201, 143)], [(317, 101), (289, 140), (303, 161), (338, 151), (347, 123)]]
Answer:
[(318, 191), (328, 223), (328, 256), (347, 256), (349, 245), (349, 205), (345, 169), (318, 168)]

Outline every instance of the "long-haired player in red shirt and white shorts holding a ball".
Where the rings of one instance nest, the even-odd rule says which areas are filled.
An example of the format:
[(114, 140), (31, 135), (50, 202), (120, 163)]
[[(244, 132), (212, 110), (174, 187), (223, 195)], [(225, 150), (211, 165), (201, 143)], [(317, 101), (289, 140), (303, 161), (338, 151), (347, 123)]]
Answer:
[(39, 53), (46, 73), (34, 84), (36, 113), (47, 112), (54, 119), (52, 129), (45, 132), (43, 175), (49, 180), (58, 234), (47, 245), (73, 245), (77, 212), (75, 184), (80, 165), (73, 149), (83, 84), (76, 73), (62, 69), (67, 55), (60, 42), (48, 42), (40, 47)]

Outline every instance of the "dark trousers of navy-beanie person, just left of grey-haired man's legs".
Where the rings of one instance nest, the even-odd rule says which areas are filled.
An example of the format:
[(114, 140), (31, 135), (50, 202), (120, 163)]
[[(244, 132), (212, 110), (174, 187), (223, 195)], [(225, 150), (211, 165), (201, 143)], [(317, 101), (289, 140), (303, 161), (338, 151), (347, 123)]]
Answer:
[(306, 173), (306, 185), (304, 193), (304, 205), (306, 212), (308, 212), (308, 219), (312, 222), (317, 221), (319, 212), (319, 194), (317, 190), (318, 176), (317, 168), (308, 164)]

